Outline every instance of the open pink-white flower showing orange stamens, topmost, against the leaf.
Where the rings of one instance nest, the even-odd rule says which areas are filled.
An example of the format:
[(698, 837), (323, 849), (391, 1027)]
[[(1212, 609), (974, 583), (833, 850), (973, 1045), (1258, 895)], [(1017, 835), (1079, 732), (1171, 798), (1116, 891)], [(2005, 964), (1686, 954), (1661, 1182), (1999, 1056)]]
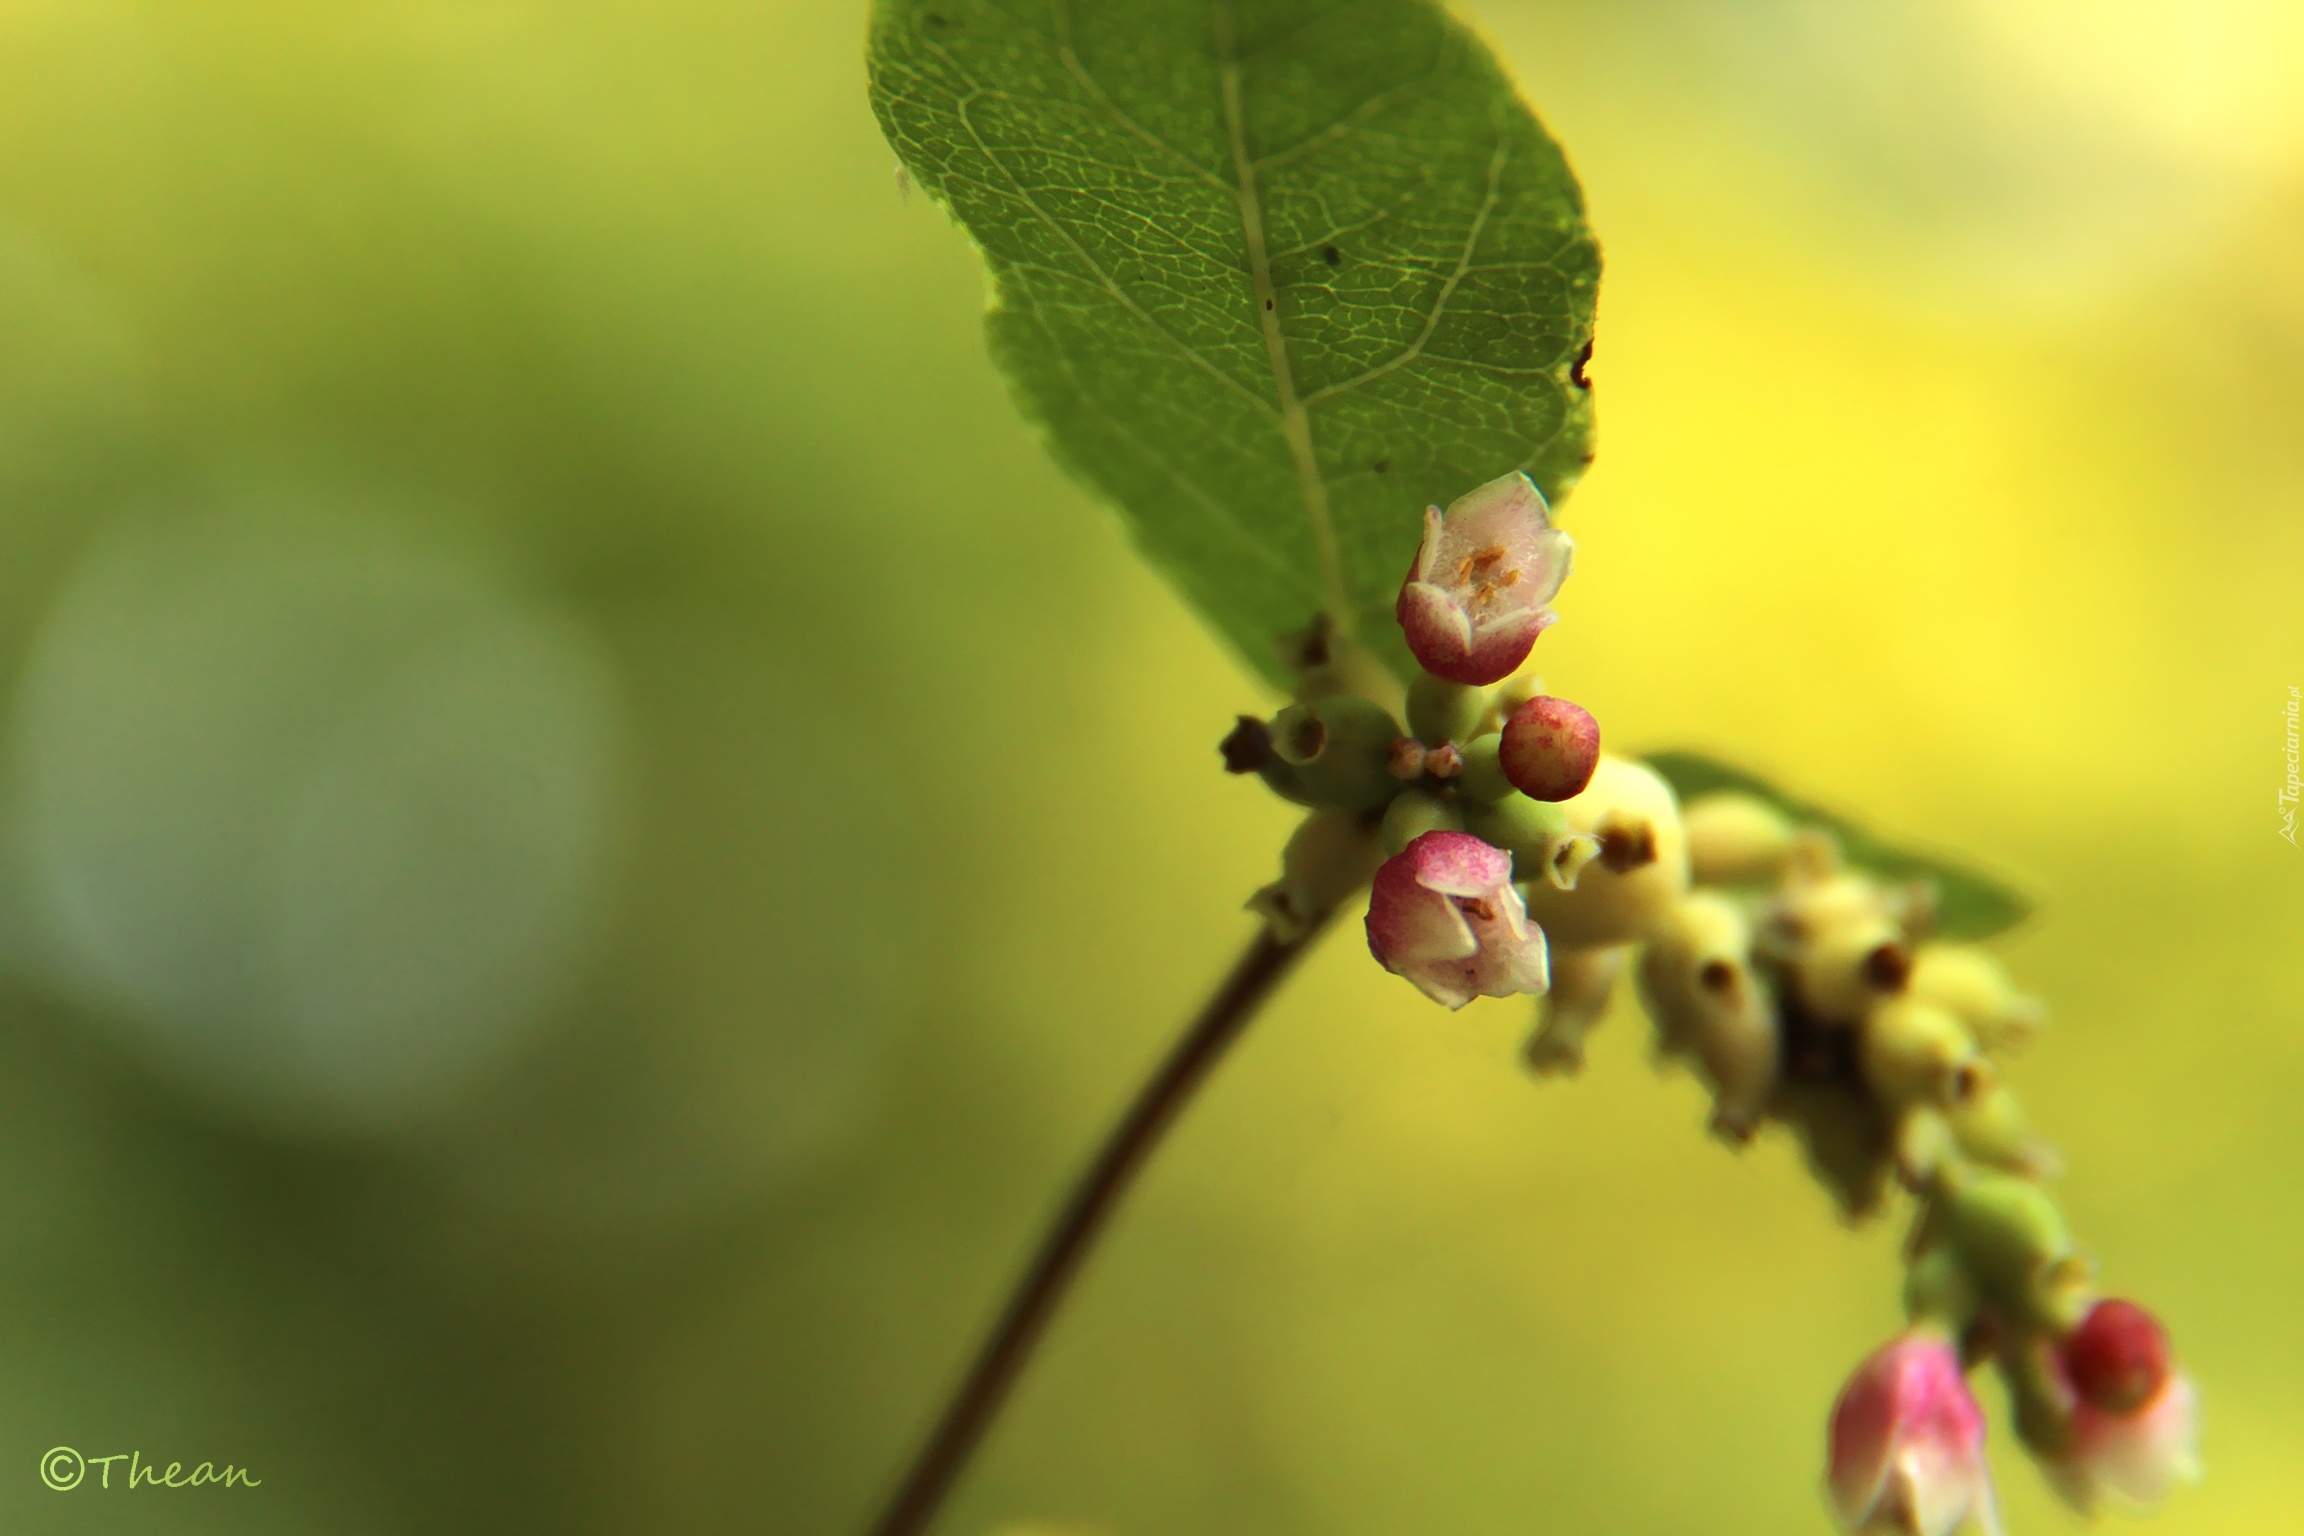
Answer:
[(1525, 474), (1491, 479), (1424, 514), (1424, 546), (1394, 617), (1424, 670), (1484, 686), (1509, 677), (1560, 615), (1546, 608), (1569, 578), (1576, 543), (1551, 525)]

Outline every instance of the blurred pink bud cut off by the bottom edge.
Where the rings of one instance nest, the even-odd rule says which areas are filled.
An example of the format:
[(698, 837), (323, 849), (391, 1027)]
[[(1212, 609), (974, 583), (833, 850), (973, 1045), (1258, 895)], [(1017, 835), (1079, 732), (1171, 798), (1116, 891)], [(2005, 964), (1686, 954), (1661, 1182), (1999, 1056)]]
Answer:
[(1825, 1485), (1862, 1536), (1949, 1536), (1970, 1518), (2000, 1536), (1984, 1409), (1949, 1338), (1912, 1329), (1857, 1368), (1832, 1407)]

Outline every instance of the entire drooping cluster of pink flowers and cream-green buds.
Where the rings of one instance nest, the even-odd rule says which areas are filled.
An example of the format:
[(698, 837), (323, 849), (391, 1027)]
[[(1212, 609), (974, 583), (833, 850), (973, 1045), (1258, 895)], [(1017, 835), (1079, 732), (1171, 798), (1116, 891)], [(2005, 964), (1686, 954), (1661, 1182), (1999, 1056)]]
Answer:
[(1571, 555), (1507, 474), (1426, 514), (1394, 610), (1422, 666), (1405, 693), (1325, 624), (1297, 638), (1295, 702), (1221, 746), (1311, 811), (1251, 905), (1286, 940), (1366, 887), (1369, 951), (1433, 1002), (1539, 997), (1539, 1073), (1583, 1064), (1631, 974), (1714, 1133), (1788, 1128), (1850, 1218), (1912, 1195), (1910, 1326), (1832, 1412), (1846, 1529), (1998, 1534), (1968, 1386), (1984, 1363), (2071, 1504), (2154, 1504), (2196, 1472), (2196, 1396), (2159, 1322), (2094, 1292), (2046, 1188), (2055, 1158), (2000, 1071), (2041, 1006), (1935, 935), (1926, 882), (1864, 870), (1751, 794), (1682, 808), (1601, 753), (1585, 709), (1518, 677)]

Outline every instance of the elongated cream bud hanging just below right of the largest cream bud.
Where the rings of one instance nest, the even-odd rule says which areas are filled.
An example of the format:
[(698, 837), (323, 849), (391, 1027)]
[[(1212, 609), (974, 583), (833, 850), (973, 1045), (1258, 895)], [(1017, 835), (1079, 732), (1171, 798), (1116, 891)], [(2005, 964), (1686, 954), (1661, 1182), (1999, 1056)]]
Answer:
[(1712, 1128), (1751, 1140), (1776, 1089), (1776, 999), (1751, 967), (1751, 923), (1716, 891), (1691, 891), (1640, 956), (1640, 995), (1659, 1055), (1687, 1057), (1712, 1085)]

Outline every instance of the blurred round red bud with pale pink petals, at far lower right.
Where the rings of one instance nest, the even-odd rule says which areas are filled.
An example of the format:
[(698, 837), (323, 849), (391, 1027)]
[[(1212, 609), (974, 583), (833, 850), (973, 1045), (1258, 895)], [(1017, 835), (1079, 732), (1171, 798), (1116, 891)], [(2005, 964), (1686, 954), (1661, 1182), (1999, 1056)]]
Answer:
[(2048, 1474), (2078, 1508), (2113, 1495), (2159, 1504), (2200, 1476), (2200, 1396), (2175, 1370), (2168, 1333), (2134, 1301), (2099, 1301), (2060, 1352), (2071, 1386), (2071, 1435)]

